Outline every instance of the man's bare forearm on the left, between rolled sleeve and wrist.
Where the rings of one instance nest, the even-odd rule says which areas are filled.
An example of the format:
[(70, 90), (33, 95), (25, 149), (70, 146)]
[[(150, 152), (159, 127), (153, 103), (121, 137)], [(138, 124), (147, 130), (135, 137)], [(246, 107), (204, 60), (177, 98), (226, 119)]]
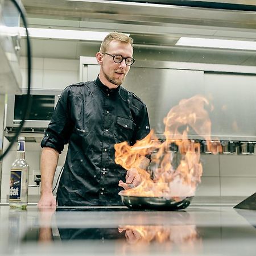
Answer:
[(59, 159), (54, 148), (44, 147), (41, 155), (41, 195), (52, 193), (52, 181)]

